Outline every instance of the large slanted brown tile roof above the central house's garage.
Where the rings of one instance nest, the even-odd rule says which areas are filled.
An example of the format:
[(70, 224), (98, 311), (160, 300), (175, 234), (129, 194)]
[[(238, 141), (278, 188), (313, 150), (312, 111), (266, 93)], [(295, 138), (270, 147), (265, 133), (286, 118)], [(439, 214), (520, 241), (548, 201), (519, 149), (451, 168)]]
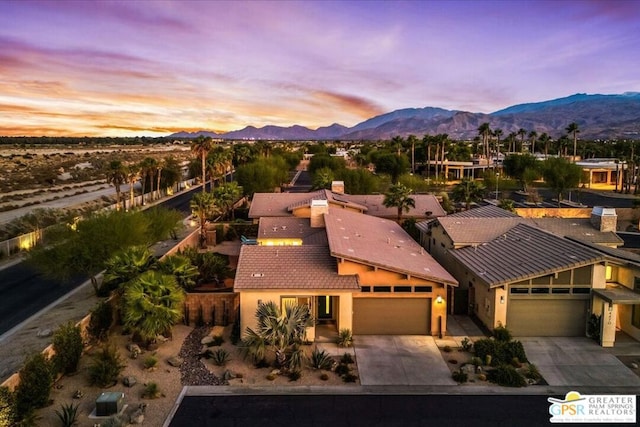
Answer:
[(434, 282), (458, 284), (394, 221), (332, 208), (324, 215), (324, 221), (334, 257)]

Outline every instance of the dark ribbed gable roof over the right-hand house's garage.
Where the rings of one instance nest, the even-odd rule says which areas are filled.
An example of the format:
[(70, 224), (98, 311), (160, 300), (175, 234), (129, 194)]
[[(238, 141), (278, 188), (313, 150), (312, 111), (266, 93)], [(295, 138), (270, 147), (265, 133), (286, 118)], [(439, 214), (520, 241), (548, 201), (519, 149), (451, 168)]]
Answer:
[(526, 224), (449, 253), (491, 287), (604, 260), (592, 249)]

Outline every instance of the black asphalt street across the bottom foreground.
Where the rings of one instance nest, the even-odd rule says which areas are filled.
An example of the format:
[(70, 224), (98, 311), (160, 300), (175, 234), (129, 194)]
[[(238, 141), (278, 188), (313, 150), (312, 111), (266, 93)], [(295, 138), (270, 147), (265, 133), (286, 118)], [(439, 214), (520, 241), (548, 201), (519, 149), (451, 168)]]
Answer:
[(549, 405), (518, 395), (185, 396), (170, 427), (543, 426)]

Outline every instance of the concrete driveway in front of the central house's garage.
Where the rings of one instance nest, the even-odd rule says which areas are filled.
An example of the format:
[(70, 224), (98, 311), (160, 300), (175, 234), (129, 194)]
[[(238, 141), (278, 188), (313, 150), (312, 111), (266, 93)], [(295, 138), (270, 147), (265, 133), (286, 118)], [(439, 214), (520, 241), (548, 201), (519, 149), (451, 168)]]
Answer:
[(435, 340), (421, 335), (357, 335), (362, 385), (455, 385)]

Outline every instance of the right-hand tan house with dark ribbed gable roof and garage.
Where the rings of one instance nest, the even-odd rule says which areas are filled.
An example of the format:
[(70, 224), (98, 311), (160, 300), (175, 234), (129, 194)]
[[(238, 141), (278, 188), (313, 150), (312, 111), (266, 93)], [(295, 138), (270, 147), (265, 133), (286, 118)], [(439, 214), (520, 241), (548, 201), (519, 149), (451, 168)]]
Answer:
[[(505, 325), (516, 336), (584, 336), (591, 314), (609, 316), (610, 300), (614, 319), (616, 302), (625, 307), (617, 322), (601, 325), (602, 345), (613, 345), (616, 324), (638, 336), (629, 325), (636, 312), (640, 324), (640, 309), (628, 309), (635, 282), (630, 273), (612, 273), (615, 263), (616, 272), (620, 263), (630, 268), (622, 255), (634, 256), (616, 249), (622, 240), (613, 209), (594, 208), (590, 219), (521, 218), (487, 206), (418, 228), (421, 244), (460, 283), (449, 298), (453, 313), (472, 313), (489, 328)], [(624, 277), (621, 299), (610, 295), (607, 277)]]

